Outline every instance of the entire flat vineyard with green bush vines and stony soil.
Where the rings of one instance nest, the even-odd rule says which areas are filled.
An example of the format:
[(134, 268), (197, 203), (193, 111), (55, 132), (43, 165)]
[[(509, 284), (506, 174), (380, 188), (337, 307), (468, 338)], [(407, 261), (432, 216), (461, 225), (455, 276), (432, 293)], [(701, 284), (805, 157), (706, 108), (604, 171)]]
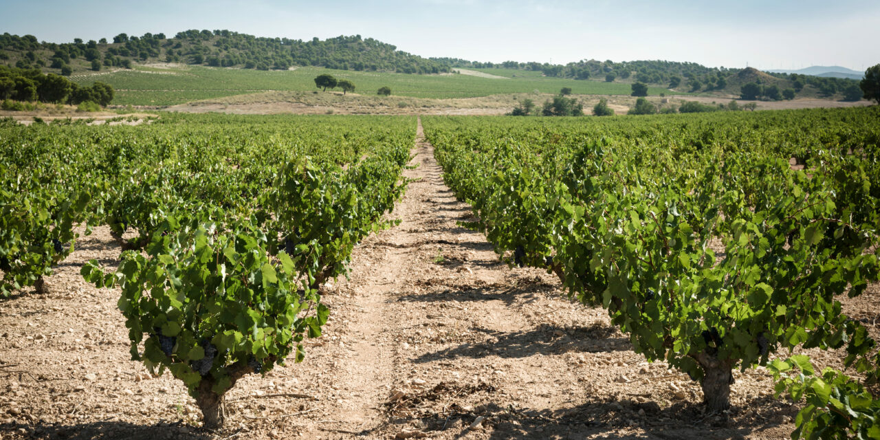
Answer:
[(0, 121), (0, 437), (880, 438), (878, 118)]

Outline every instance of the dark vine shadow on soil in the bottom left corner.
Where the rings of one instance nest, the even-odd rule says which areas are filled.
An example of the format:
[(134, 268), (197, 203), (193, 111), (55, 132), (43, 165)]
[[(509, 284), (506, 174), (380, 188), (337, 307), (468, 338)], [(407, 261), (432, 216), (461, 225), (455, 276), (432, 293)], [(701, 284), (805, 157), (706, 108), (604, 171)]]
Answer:
[[(21, 431), (20, 429), (24, 429)], [(209, 435), (198, 428), (180, 423), (158, 425), (137, 425), (129, 422), (84, 422), (72, 425), (62, 423), (6, 423), (0, 425), (0, 432), (18, 433), (24, 438), (48, 439), (133, 439), (133, 440), (209, 440)], [(14, 438), (14, 437), (13, 437)]]

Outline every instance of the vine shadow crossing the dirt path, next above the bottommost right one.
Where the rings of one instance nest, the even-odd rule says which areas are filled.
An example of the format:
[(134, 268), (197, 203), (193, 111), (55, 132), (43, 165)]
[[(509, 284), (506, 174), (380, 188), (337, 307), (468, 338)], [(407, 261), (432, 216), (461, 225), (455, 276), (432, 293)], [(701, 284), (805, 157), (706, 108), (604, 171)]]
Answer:
[[(625, 337), (611, 337), (616, 330), (611, 326), (575, 326), (561, 331), (557, 326), (542, 324), (528, 331), (510, 333), (496, 332), (476, 327), (473, 331), (486, 334), (481, 342), (465, 342), (457, 347), (444, 348), (426, 353), (413, 360), (414, 363), (429, 363), (458, 357), (479, 358), (499, 356), (502, 358), (522, 358), (540, 354), (542, 356), (563, 353), (598, 353), (631, 350)], [(558, 334), (561, 333), (561, 336)], [(571, 334), (574, 337), (569, 337)]]

